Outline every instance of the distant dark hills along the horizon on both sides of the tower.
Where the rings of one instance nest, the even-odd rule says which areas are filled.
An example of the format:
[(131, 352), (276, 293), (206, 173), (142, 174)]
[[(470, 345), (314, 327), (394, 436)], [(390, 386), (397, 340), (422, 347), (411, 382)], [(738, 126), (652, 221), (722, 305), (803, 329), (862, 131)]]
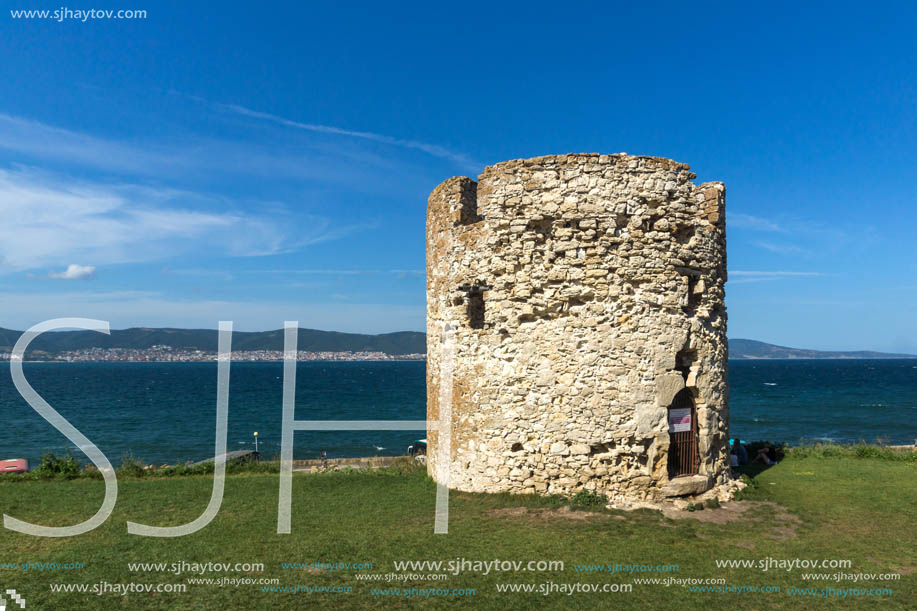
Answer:
[[(21, 331), (0, 329), (0, 352), (11, 352)], [(400, 331), (382, 335), (338, 333), (335, 331), (299, 330), (299, 349), (306, 352), (383, 352), (385, 354), (422, 354), (426, 352), (426, 335), (417, 331)], [(53, 331), (32, 341), (29, 354), (58, 354), (85, 348), (133, 348), (171, 346), (184, 350), (216, 352), (217, 331), (212, 329), (122, 329), (111, 335), (95, 331)], [(283, 329), (276, 331), (236, 331), (232, 334), (233, 350), (283, 350)], [(891, 359), (917, 358), (911, 354), (889, 354), (868, 350), (825, 352), (804, 348), (775, 346), (751, 339), (729, 340), (731, 359)]]

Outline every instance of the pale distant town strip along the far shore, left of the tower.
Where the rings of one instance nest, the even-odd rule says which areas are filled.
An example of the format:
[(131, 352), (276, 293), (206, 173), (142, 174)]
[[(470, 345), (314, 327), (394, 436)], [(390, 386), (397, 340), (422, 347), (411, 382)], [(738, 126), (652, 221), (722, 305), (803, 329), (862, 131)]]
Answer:
[[(0, 361), (11, 360), (9, 352), (0, 352)], [(231, 360), (273, 362), (284, 359), (283, 350), (237, 350)], [(85, 348), (58, 354), (28, 354), (28, 361), (62, 363), (202, 363), (218, 360), (216, 352), (188, 350), (171, 346), (149, 348)], [(386, 354), (384, 352), (307, 352), (299, 350), (297, 361), (423, 361), (425, 354)]]

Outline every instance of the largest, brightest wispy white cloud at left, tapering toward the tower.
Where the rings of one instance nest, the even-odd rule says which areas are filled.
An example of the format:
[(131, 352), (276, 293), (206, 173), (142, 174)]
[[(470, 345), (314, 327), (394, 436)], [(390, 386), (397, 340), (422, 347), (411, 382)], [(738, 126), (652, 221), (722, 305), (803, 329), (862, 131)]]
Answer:
[(213, 211), (230, 202), (175, 189), (0, 170), (0, 271), (200, 256), (261, 256), (336, 239), (357, 225), (308, 215)]

